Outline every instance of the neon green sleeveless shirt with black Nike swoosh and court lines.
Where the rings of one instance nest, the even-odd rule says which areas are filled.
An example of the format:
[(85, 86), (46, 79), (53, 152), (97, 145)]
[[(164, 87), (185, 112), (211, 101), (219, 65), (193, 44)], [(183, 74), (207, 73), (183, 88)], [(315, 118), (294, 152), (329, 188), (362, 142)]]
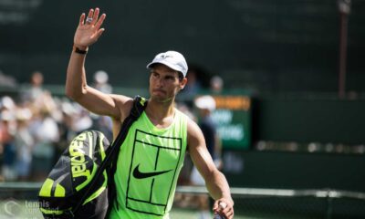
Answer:
[(114, 176), (117, 195), (110, 218), (167, 219), (186, 151), (187, 117), (156, 128), (143, 112), (120, 147)]

